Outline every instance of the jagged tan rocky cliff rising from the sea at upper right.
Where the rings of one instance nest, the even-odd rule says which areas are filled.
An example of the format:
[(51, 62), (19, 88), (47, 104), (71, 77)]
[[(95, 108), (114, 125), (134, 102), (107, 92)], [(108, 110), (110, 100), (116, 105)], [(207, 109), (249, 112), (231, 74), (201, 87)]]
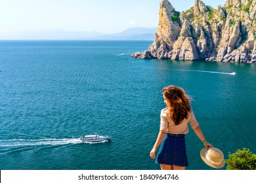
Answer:
[(227, 0), (217, 9), (201, 0), (177, 12), (162, 0), (158, 33), (133, 58), (256, 63), (256, 0)]

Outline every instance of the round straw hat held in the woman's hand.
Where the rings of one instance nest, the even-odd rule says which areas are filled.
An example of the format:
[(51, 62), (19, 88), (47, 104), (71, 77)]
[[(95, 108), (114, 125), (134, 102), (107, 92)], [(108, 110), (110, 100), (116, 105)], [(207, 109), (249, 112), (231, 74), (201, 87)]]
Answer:
[(221, 169), (225, 165), (223, 152), (218, 148), (210, 148), (209, 150), (203, 148), (200, 151), (200, 156), (207, 165), (215, 169)]

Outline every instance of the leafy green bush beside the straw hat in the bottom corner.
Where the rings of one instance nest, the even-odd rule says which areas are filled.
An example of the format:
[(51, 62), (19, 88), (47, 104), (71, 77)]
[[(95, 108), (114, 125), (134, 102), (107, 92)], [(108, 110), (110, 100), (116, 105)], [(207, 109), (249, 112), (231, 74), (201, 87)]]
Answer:
[(228, 158), (226, 159), (227, 170), (256, 170), (256, 154), (247, 148), (228, 154)]

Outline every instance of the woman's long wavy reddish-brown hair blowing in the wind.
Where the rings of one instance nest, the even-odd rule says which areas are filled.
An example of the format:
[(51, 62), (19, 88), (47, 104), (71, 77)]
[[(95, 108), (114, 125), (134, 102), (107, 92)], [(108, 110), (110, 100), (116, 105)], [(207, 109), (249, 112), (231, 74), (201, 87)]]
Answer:
[(167, 86), (162, 90), (163, 95), (169, 100), (170, 118), (175, 125), (179, 125), (184, 118), (188, 118), (188, 112), (191, 111), (190, 101), (186, 92), (177, 86)]

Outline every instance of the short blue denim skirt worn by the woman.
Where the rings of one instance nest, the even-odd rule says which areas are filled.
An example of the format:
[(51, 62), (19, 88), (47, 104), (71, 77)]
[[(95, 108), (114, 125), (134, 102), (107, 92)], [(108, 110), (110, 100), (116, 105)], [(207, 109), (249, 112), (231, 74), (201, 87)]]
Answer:
[(156, 163), (188, 167), (185, 135), (166, 133), (158, 150)]

